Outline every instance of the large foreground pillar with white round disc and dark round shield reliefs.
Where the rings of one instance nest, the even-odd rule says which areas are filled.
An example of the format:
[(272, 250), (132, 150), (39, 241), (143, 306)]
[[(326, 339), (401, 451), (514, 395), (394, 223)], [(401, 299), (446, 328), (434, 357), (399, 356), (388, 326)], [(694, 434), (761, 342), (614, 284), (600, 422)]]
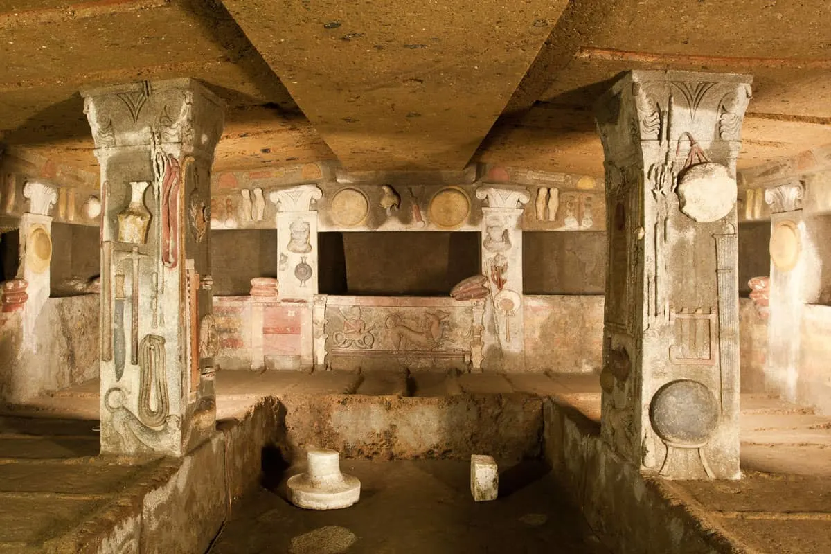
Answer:
[(750, 81), (632, 71), (597, 105), (602, 436), (667, 478), (740, 477), (735, 158)]

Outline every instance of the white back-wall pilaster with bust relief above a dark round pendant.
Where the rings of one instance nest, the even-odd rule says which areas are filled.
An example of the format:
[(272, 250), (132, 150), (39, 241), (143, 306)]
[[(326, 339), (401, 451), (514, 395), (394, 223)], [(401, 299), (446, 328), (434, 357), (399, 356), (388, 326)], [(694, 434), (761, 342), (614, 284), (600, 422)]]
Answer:
[(316, 201), (322, 195), (313, 184), (277, 189), (268, 195), (277, 206), (280, 298), (311, 302), (317, 294)]

